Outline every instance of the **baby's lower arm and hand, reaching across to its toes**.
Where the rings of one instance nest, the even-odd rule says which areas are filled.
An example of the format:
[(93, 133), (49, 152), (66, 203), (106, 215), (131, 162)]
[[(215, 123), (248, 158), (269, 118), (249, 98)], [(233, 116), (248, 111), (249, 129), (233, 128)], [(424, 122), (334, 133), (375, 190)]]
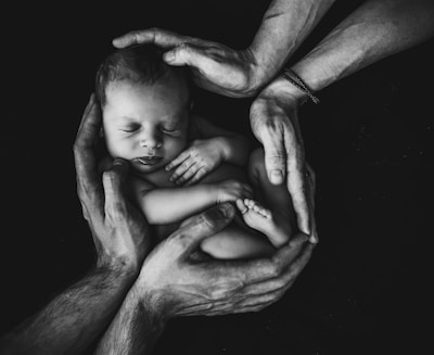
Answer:
[(252, 189), (235, 180), (183, 188), (155, 188), (148, 181), (133, 178), (131, 186), (133, 200), (153, 225), (181, 221), (214, 204), (252, 196)]

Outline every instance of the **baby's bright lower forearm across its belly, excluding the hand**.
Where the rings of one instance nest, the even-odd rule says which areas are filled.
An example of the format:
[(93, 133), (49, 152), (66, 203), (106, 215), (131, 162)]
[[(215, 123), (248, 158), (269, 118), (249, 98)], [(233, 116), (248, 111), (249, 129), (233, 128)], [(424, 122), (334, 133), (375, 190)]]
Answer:
[(155, 189), (140, 198), (140, 205), (146, 220), (154, 225), (180, 221), (216, 202), (217, 194), (214, 186), (208, 183)]

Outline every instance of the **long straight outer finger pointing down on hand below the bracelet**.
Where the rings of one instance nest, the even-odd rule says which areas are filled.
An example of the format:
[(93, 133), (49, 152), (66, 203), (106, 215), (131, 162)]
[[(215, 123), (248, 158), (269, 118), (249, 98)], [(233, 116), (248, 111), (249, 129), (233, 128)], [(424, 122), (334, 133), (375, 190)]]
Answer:
[(286, 151), (286, 186), (291, 194), (298, 228), (310, 234), (309, 204), (305, 185), (305, 151), (301, 137), (294, 128), (284, 130), (284, 147)]

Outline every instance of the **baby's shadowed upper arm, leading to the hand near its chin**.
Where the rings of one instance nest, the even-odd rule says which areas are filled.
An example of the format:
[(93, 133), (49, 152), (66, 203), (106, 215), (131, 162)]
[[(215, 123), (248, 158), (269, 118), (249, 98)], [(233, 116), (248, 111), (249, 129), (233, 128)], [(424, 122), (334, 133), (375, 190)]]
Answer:
[(244, 136), (217, 127), (200, 116), (193, 119), (201, 136), (215, 141), (215, 145), (221, 150), (225, 162), (242, 167), (247, 165), (251, 147)]

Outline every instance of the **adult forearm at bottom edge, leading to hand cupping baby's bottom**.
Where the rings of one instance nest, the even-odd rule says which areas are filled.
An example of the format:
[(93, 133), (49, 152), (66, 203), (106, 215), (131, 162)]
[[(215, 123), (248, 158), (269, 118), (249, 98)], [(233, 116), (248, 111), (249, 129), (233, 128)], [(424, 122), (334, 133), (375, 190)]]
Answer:
[(156, 304), (140, 299), (132, 287), (116, 317), (101, 338), (95, 354), (150, 354), (164, 330)]

